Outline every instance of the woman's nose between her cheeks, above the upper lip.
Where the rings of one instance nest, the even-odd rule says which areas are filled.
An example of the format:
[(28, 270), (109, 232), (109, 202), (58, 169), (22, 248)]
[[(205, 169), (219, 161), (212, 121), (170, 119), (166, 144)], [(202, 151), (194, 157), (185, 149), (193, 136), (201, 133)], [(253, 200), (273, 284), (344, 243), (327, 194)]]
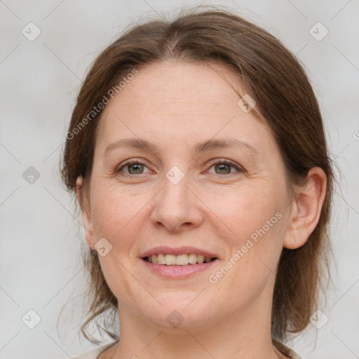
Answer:
[(185, 175), (177, 184), (163, 178), (163, 189), (154, 198), (151, 221), (154, 226), (164, 226), (170, 232), (194, 229), (203, 223), (201, 201), (189, 187)]

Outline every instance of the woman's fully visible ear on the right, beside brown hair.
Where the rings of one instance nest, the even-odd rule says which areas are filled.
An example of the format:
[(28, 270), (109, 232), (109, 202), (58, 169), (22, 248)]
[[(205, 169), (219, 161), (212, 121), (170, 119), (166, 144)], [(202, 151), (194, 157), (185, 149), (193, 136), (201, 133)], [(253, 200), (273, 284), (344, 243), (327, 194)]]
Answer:
[(326, 189), (327, 176), (323, 169), (311, 168), (306, 184), (300, 187), (299, 193), (291, 203), (283, 247), (293, 250), (302, 247), (308, 241), (318, 224)]

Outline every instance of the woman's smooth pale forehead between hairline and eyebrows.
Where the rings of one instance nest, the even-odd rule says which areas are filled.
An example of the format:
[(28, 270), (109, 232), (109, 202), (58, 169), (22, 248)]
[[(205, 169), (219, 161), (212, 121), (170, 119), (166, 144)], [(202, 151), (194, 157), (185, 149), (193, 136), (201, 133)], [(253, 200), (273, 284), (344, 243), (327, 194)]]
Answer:
[(240, 97), (230, 84), (240, 88), (236, 75), (216, 63), (155, 63), (140, 68), (102, 111), (99, 142), (155, 137), (154, 141), (170, 144), (175, 139), (208, 140), (216, 134), (263, 136), (266, 127), (238, 107)]

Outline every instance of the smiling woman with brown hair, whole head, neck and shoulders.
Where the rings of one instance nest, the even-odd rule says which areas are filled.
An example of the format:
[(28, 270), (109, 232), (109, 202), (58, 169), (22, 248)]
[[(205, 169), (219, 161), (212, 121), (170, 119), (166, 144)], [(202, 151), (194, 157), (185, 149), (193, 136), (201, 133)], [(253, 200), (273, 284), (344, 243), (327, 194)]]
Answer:
[(332, 169), (298, 60), (224, 11), (137, 25), (83, 82), (62, 176), (90, 248), (79, 358), (300, 358), (318, 309)]

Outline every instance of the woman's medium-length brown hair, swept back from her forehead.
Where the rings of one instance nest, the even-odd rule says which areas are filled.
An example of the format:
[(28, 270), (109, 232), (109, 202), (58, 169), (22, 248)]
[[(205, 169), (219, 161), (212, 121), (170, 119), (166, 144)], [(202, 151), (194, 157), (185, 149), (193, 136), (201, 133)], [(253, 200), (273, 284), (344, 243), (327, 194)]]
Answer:
[[(175, 20), (151, 20), (128, 29), (103, 50), (88, 72), (69, 124), (62, 158), (62, 180), (76, 193), (76, 178), (88, 183), (93, 166), (95, 135), (101, 111), (81, 121), (103, 101), (109, 89), (124, 76), (144, 65), (163, 61), (219, 62), (238, 75), (245, 93), (255, 99), (252, 113), (266, 123), (280, 147), (287, 182), (303, 184), (310, 168), (327, 175), (327, 192), (316, 229), (301, 248), (283, 248), (278, 263), (271, 315), (272, 337), (285, 340), (288, 332), (300, 332), (318, 306), (321, 278), (329, 274), (331, 246), (327, 235), (333, 174), (327, 153), (323, 120), (316, 96), (299, 60), (266, 30), (229, 11), (191, 9)], [(241, 94), (240, 94), (241, 95)], [(82, 122), (83, 123), (83, 122)], [(74, 135), (76, 133), (76, 135)], [(86, 201), (80, 203), (86, 208)], [(90, 273), (88, 318), (81, 326), (110, 310), (116, 314), (117, 299), (107, 286), (97, 257), (84, 255)], [(113, 323), (114, 316), (111, 322)], [(105, 321), (104, 327), (111, 328)], [(104, 328), (102, 328), (104, 329)], [(104, 329), (106, 330), (106, 329)], [(107, 331), (113, 338), (115, 333)]]

